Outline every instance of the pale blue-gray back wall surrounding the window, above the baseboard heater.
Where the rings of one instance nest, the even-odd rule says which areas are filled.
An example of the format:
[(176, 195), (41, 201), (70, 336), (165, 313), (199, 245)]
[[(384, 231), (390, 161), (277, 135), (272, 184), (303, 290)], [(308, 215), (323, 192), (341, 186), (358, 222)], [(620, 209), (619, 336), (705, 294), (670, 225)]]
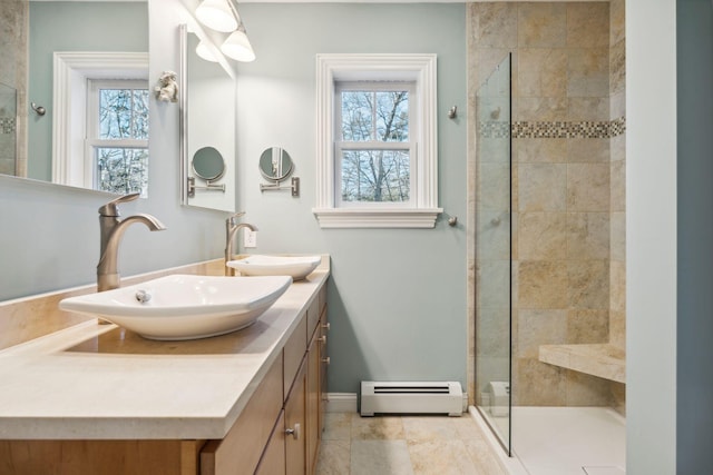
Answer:
[[(260, 253), (329, 253), (329, 390), (362, 379), (466, 384), (466, 229), (321, 229), (315, 55), (438, 55), (439, 205), (466, 222), (466, 10), (461, 4), (241, 3), (257, 60), (238, 65), (237, 208)], [(458, 106), (457, 120), (447, 117)], [(284, 147), (302, 194), (261, 194), (258, 157)]]

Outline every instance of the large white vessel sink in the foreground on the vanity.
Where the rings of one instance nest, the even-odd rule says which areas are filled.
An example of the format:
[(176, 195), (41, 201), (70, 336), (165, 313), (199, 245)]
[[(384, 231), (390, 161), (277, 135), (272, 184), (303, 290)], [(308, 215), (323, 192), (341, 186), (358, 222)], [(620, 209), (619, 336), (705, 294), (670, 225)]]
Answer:
[(253, 324), (290, 284), (289, 276), (172, 275), (66, 298), (59, 308), (96, 315), (149, 339), (205, 338)]

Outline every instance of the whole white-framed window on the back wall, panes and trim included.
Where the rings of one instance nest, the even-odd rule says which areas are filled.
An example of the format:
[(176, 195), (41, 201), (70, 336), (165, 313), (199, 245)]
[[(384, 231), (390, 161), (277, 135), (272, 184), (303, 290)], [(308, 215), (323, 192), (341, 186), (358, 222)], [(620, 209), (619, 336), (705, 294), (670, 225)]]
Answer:
[(434, 113), (434, 55), (319, 55), (320, 226), (432, 228)]

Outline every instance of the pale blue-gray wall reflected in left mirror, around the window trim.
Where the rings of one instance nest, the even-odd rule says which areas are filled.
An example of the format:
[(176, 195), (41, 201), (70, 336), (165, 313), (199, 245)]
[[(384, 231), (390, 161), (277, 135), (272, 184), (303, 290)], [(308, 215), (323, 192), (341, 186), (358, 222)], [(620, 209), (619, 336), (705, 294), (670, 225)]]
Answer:
[[(128, 32), (128, 34), (127, 34)], [(28, 177), (52, 179), (52, 53), (148, 51), (145, 2), (30, 2), (29, 91), (48, 113), (30, 113)]]

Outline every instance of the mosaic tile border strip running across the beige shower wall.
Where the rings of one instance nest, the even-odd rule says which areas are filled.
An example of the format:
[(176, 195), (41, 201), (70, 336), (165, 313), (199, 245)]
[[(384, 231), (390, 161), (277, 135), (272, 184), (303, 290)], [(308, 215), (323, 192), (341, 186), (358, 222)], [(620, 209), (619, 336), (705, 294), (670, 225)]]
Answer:
[(515, 121), (509, 126), (507, 121), (489, 120), (480, 122), (480, 136), (485, 138), (507, 138), (509, 133), (515, 139), (608, 139), (621, 136), (626, 131), (626, 118), (602, 121)]

